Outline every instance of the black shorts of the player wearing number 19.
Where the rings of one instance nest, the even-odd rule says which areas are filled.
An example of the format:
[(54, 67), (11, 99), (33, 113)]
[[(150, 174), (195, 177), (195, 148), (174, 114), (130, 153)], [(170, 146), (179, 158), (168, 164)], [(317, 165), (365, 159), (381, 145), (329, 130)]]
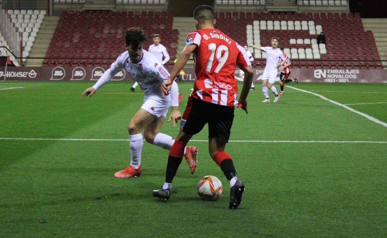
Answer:
[(223, 106), (189, 97), (180, 127), (188, 135), (199, 133), (208, 123), (208, 138), (228, 142), (234, 120), (233, 106)]

